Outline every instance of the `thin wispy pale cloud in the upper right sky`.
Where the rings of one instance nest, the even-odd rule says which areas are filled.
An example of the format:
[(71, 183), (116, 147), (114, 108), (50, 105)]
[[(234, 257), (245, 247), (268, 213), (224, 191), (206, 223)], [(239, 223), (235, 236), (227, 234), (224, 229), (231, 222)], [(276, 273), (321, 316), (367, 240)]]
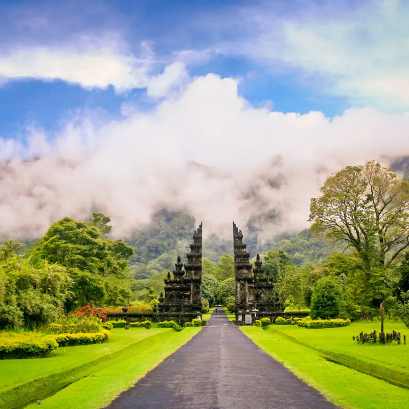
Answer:
[[(287, 4), (287, 3), (285, 3)], [(321, 93), (386, 110), (409, 107), (407, 2), (280, 2), (241, 10), (239, 38), (216, 44), (272, 74), (290, 73)], [(246, 34), (243, 35), (242, 32)]]

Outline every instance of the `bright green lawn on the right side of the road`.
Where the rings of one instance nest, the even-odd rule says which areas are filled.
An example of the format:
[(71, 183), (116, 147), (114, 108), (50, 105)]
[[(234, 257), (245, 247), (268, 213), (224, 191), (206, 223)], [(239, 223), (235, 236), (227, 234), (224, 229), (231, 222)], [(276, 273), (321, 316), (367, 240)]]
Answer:
[[(334, 355), (341, 350), (340, 355), (348, 355), (353, 361), (358, 358), (380, 362), (386, 369), (396, 365), (395, 370), (404, 366), (409, 357), (409, 346), (406, 345), (354, 345), (352, 334), (361, 330), (369, 331), (373, 323), (357, 323), (351, 327), (329, 329), (307, 329), (296, 326), (271, 325), (263, 330), (258, 327), (240, 327), (240, 329), (269, 355), (282, 362), (284, 366), (306, 381), (315, 389), (322, 392), (334, 403), (345, 408), (356, 409), (401, 409), (407, 406), (409, 390), (399, 388), (384, 380), (358, 372), (355, 369), (330, 362), (324, 358), (325, 354), (317, 351), (325, 345), (325, 349)], [(393, 325), (397, 330), (398, 325)], [(385, 328), (386, 330), (394, 329)], [(305, 345), (301, 345), (300, 339)], [(345, 338), (345, 339), (344, 339)], [(350, 344), (349, 344), (350, 343)], [(400, 351), (399, 351), (400, 350)], [(358, 351), (355, 354), (355, 351)], [(391, 353), (392, 357), (386, 357)], [(379, 359), (378, 359), (379, 358)], [(365, 362), (364, 362), (365, 363)]]

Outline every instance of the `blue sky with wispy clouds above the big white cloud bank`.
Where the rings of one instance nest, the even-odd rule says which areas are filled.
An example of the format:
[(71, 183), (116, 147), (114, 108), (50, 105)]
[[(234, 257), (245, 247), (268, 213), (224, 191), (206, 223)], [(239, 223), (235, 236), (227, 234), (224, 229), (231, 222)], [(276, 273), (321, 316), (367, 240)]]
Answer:
[[(398, 47), (408, 41), (405, 2), (3, 1), (0, 15), (0, 135), (6, 139), (21, 138), (32, 124), (55, 131), (78, 110), (102, 109), (116, 118), (124, 103), (152, 107), (149, 78), (175, 62), (191, 78), (236, 78), (249, 103), (282, 112), (333, 117), (353, 106), (404, 112), (408, 105), (409, 56)], [(103, 62), (77, 65), (99, 54), (101, 61), (123, 60), (125, 71), (127, 59), (145, 60), (144, 74), (135, 76), (146, 78), (120, 84), (118, 70), (93, 81)], [(70, 70), (82, 72), (70, 78)], [(385, 85), (371, 89), (371, 78)]]

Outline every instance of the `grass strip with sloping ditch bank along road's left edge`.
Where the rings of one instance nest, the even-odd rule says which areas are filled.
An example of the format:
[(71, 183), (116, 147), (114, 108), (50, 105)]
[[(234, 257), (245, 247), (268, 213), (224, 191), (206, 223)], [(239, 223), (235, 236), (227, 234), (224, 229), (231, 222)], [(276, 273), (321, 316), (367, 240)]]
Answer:
[[(137, 331), (146, 331), (147, 336), (138, 339), (135, 343), (128, 344), (122, 349), (115, 349), (115, 345), (110, 345), (110, 342), (82, 347), (112, 346), (114, 347), (112, 350), (115, 352), (7, 390), (0, 394), (0, 408), (22, 408), (30, 402), (35, 402), (35, 407), (38, 407), (37, 400), (41, 400), (41, 407), (59, 407), (61, 409), (73, 407), (76, 409), (99, 408), (115, 399), (120, 392), (129, 388), (146, 372), (187, 343), (199, 330), (200, 328), (188, 328), (176, 332), (172, 329), (137, 329)], [(124, 330), (119, 329), (117, 331), (122, 332)], [(132, 332), (134, 331), (132, 330)], [(126, 332), (128, 333), (128, 331)], [(112, 335), (114, 334), (115, 332)], [(135, 359), (135, 357), (137, 358)], [(52, 360), (53, 358), (44, 359)], [(118, 371), (118, 368), (120, 368), (120, 371)], [(101, 377), (104, 381), (95, 386), (95, 381), (101, 379)], [(89, 382), (93, 383), (92, 387), (85, 386), (85, 388), (81, 389), (82, 385)], [(78, 384), (81, 385), (80, 391), (72, 393), (72, 389), (78, 389)], [(55, 403), (55, 401), (59, 400), (61, 400), (61, 403)], [(28, 407), (31, 407), (31, 405)]]

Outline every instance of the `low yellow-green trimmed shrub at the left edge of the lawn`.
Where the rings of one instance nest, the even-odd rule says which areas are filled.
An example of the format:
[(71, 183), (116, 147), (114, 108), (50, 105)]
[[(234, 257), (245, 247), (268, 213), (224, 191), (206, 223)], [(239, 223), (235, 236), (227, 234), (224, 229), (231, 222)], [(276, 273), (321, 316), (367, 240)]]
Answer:
[(33, 332), (0, 334), (0, 359), (43, 358), (57, 348), (54, 335)]

